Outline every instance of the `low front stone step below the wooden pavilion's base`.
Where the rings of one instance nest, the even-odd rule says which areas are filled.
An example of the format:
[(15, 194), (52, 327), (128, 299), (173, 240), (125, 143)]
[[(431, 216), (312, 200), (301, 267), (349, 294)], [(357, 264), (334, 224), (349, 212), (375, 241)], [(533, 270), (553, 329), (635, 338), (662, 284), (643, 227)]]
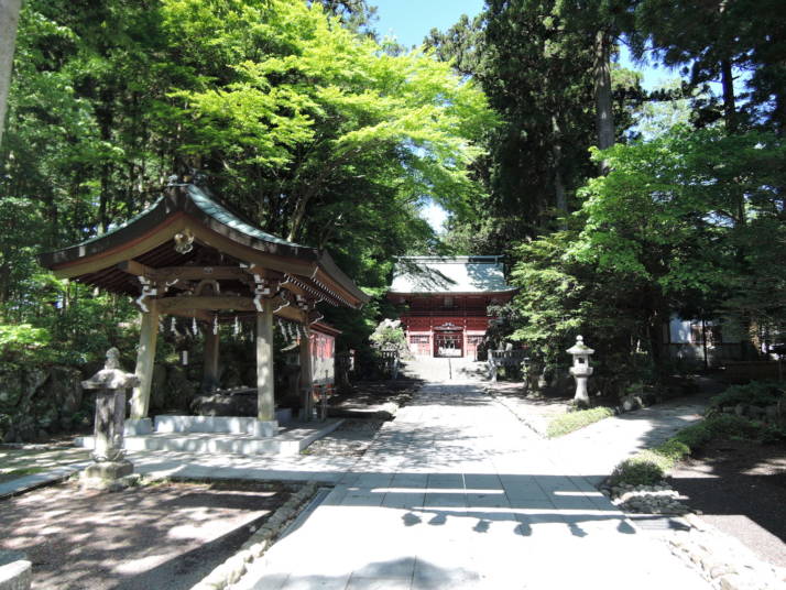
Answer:
[[(178, 452), (233, 454), (233, 455), (297, 455), (312, 442), (340, 426), (343, 419), (282, 428), (277, 436), (253, 437), (230, 433), (153, 433), (127, 436), (123, 447), (128, 451), (165, 450)], [(94, 448), (91, 436), (80, 437), (77, 445)]]

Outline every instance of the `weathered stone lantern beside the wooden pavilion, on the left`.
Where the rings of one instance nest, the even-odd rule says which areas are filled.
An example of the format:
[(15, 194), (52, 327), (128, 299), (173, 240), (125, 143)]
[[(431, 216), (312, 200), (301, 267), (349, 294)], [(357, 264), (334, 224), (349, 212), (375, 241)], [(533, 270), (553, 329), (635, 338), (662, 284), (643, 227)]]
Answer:
[(83, 473), (86, 487), (106, 488), (133, 472), (123, 450), (125, 390), (139, 385), (140, 380), (120, 369), (119, 357), (120, 351), (110, 348), (103, 369), (81, 382), (83, 389), (97, 390), (94, 462)]

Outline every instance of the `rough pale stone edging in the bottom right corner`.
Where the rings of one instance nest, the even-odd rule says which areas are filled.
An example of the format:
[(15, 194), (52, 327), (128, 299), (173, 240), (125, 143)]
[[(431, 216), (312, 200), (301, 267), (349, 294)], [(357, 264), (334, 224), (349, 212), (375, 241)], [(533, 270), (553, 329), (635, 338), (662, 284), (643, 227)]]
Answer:
[(669, 549), (719, 590), (784, 590), (786, 568), (762, 561), (734, 537), (727, 535), (696, 514), (686, 514), (690, 526), (674, 533)]

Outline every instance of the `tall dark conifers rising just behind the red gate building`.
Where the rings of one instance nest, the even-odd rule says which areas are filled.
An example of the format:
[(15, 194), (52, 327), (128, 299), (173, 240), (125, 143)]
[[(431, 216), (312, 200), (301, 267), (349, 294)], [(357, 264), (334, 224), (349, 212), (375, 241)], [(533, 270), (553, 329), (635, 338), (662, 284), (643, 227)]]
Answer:
[[(459, 252), (495, 254), (511, 242), (564, 225), (575, 190), (594, 172), (597, 143), (593, 39), (610, 12), (600, 4), (555, 0), (493, 0), (426, 39), (437, 55), (477, 79), (502, 124), (485, 138), (489, 157), (478, 177), (488, 198), (454, 216), (449, 241)], [(612, 64), (613, 117), (624, 130), (638, 75)], [(452, 236), (455, 234), (455, 236)], [(462, 237), (481, 239), (465, 241)]]

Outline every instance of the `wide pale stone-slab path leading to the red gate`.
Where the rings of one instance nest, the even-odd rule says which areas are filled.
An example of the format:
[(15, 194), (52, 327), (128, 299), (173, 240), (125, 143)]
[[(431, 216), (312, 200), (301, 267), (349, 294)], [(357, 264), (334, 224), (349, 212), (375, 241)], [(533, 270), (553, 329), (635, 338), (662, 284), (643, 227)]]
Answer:
[(585, 477), (685, 412), (552, 448), (478, 384), (426, 385), (234, 588), (709, 588)]

